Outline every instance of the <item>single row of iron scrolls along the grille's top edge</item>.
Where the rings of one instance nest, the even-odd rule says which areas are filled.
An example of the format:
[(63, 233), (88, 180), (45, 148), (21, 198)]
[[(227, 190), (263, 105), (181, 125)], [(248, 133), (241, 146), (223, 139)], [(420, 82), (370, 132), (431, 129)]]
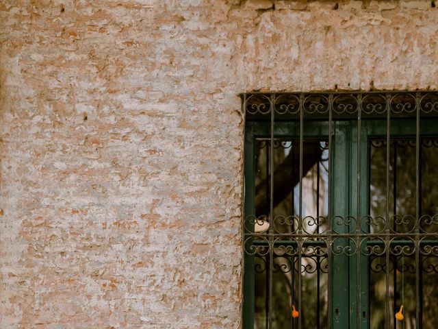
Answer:
[(326, 92), (326, 93), (243, 93), (247, 119), (326, 118), (329, 110), (333, 119), (357, 117), (360, 110), (365, 117), (384, 117), (389, 109), (392, 117), (412, 117), (417, 108), (422, 117), (438, 115), (438, 96), (434, 92)]

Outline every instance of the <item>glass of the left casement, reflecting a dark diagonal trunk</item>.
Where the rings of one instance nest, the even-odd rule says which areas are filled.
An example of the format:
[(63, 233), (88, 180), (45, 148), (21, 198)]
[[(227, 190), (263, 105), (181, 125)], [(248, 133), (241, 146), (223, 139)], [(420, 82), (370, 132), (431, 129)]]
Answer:
[[(298, 328), (292, 307), (298, 308), (298, 276), (301, 276), (302, 328), (324, 328), (327, 321), (327, 255), (322, 239), (305, 237), (326, 230), (328, 211), (328, 149), (325, 140), (305, 140), (302, 162), (302, 248), (298, 259), (296, 239), (276, 239), (272, 267), (272, 328)], [(270, 152), (274, 158), (273, 223), (270, 212)], [(271, 228), (276, 234), (296, 234), (299, 220), (300, 143), (298, 140), (256, 141), (255, 232)], [(267, 243), (263, 237), (255, 238)], [(300, 267), (301, 263), (301, 267)], [(269, 254), (255, 256), (255, 328), (267, 328), (269, 308)]]

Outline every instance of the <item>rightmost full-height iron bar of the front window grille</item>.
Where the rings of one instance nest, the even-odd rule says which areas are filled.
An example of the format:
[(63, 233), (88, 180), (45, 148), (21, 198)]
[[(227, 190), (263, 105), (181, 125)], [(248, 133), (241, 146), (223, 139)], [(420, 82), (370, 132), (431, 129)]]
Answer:
[(420, 93), (415, 93), (415, 329), (420, 329)]

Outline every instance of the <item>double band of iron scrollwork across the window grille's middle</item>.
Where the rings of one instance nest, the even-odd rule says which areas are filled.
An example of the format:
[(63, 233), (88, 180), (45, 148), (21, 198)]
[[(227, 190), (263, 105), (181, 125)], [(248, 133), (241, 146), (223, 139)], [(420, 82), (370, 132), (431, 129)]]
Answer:
[[(274, 256), (303, 257), (326, 256), (326, 249), (336, 256), (412, 256), (418, 248), (421, 256), (438, 257), (438, 215), (423, 215), (417, 221), (412, 215), (392, 215), (385, 226), (383, 217), (364, 216), (359, 223), (355, 217), (333, 217), (337, 227), (328, 230), (326, 217), (276, 216), (271, 232), (255, 233), (256, 223), (267, 221), (267, 216), (248, 216), (245, 221), (245, 252), (248, 255), (266, 256), (273, 248)], [(301, 223), (302, 230), (298, 227)], [(399, 230), (394, 230), (394, 224)], [(281, 227), (281, 229), (280, 229)], [(285, 229), (287, 227), (287, 229)], [(285, 231), (287, 231), (285, 233)], [(318, 233), (317, 233), (318, 232)]]

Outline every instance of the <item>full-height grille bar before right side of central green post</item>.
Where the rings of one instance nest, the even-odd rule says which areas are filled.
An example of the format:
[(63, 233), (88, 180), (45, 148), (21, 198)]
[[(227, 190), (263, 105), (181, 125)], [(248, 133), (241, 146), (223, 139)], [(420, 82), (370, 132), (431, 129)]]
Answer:
[(361, 130), (362, 130), (362, 94), (358, 95), (357, 104), (357, 217), (356, 217), (356, 328), (360, 328), (360, 314), (361, 314), (361, 271), (360, 271), (360, 256), (361, 245), (359, 242), (359, 234), (361, 228)]

